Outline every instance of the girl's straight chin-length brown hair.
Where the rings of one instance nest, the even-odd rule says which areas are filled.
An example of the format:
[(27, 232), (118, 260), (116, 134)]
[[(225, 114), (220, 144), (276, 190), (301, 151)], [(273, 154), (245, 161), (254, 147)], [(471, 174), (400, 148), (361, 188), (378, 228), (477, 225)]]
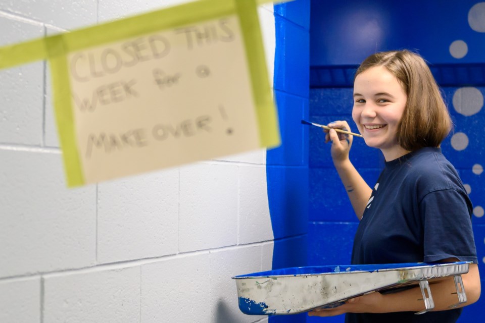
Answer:
[(423, 58), (409, 50), (377, 52), (362, 62), (355, 76), (375, 66), (389, 70), (407, 95), (397, 131), (401, 147), (410, 151), (439, 147), (450, 133), (452, 122), (440, 89)]

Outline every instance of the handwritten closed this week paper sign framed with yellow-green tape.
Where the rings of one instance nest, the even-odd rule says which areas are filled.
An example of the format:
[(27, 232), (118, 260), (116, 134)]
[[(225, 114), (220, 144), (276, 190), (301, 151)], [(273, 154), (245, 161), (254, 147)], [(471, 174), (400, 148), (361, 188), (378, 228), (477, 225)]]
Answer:
[(69, 186), (279, 144), (254, 1), (185, 4), (45, 44)]

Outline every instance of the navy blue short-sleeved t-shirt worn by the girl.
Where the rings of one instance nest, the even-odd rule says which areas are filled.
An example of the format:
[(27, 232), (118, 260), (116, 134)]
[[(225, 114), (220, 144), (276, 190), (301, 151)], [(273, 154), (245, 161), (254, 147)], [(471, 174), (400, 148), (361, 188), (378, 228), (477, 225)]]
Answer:
[[(458, 173), (440, 148), (425, 147), (386, 162), (357, 228), (352, 264), (451, 257), (477, 263), (472, 211)], [(460, 313), (461, 309), (421, 315), (348, 313), (345, 321), (451, 323)]]

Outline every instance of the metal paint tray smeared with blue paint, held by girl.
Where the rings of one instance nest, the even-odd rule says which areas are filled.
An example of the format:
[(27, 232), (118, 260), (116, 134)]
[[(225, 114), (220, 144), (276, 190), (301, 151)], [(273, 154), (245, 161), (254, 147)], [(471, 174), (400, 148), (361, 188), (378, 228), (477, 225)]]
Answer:
[(454, 276), (457, 306), (466, 302), (461, 274), (470, 262), (397, 263), (294, 267), (235, 276), (239, 309), (250, 315), (281, 315), (336, 307), (364, 294), (398, 292), (419, 285), (425, 310), (434, 308), (428, 282)]

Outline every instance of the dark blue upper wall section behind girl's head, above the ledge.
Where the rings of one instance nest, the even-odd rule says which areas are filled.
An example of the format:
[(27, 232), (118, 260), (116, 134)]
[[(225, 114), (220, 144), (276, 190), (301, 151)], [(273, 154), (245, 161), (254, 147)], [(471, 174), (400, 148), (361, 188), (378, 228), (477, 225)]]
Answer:
[[(476, 0), (313, 0), (311, 65), (360, 64), (376, 50), (418, 49), (433, 64), (482, 63), (485, 33), (468, 24)], [(478, 8), (479, 9), (479, 8)], [(468, 44), (461, 59), (455, 40)]]

